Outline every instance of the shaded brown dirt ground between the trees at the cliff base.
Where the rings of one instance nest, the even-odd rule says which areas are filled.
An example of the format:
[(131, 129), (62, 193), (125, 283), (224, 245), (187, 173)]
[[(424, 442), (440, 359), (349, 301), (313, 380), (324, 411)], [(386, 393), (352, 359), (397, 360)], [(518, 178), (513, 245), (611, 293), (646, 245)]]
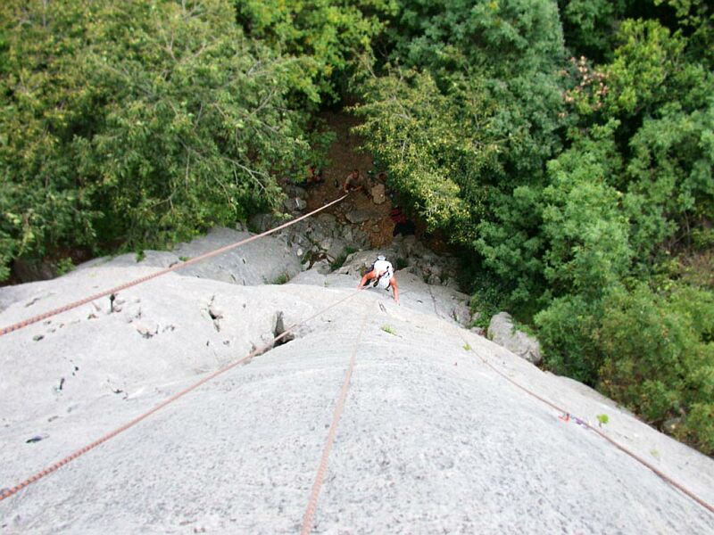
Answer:
[[(342, 195), (345, 178), (353, 169), (359, 169), (361, 176), (368, 180), (370, 176), (376, 177), (378, 172), (383, 170), (374, 168), (371, 155), (359, 150), (360, 136), (355, 136), (350, 132), (350, 128), (359, 124), (359, 119), (347, 113), (335, 112), (322, 113), (320, 118), (327, 123), (328, 128), (336, 133), (337, 138), (329, 148), (328, 166), (322, 169), (324, 182), (317, 185), (307, 185), (308, 210), (320, 208), (326, 202), (330, 202)], [(373, 171), (373, 173), (369, 175), (368, 171)], [(369, 235), (369, 242), (372, 247), (381, 247), (392, 243), (394, 222), (389, 218), (389, 213), (392, 210), (392, 202), (389, 197), (386, 197), (385, 202), (375, 204), (365, 193), (353, 192), (345, 201), (328, 209), (328, 213), (333, 214), (340, 223), (349, 224), (345, 214), (353, 210), (374, 212), (374, 218), (369, 218), (360, 225), (356, 225)]]

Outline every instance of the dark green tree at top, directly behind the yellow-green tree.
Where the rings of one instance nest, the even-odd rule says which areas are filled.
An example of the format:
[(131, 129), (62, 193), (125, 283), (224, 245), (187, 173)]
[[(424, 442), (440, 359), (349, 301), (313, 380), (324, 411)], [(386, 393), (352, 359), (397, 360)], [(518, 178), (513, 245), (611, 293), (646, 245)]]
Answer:
[[(440, 0), (400, 7), (390, 60), (427, 70), (444, 95), (457, 106), (466, 103), (458, 118), (464, 121), (461, 136), (478, 145), (481, 129), (488, 128), (508, 171), (497, 178), (532, 182), (559, 145), (553, 133), (562, 122), (558, 70), (565, 49), (557, 6), (547, 0)], [(482, 103), (469, 105), (474, 98)]]

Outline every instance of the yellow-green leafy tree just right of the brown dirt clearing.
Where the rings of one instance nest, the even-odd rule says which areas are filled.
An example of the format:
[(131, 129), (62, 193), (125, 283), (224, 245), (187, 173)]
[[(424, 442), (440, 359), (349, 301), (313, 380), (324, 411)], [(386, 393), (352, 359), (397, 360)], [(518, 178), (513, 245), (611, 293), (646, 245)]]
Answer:
[[(470, 160), (486, 164), (494, 147), (482, 149), (460, 136), (454, 114), (461, 111), (428, 74), (395, 70), (369, 79), (364, 90), (369, 103), (356, 110), (365, 118), (356, 130), (366, 137), (367, 149), (389, 166), (393, 186), (432, 229), (468, 220), (468, 210), (478, 206), (461, 200), (453, 171)], [(449, 155), (460, 161), (448, 161)]]

